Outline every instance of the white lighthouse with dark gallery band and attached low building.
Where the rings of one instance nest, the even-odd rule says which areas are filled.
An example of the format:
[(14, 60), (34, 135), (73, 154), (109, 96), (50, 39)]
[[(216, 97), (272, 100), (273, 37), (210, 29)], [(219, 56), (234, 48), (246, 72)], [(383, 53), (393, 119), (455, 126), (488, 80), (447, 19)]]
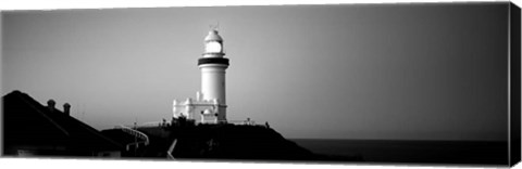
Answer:
[(198, 60), (201, 70), (201, 91), (196, 100), (173, 102), (173, 116), (185, 116), (197, 122), (226, 122), (225, 70), (228, 58), (223, 57), (223, 39), (217, 30), (210, 30), (204, 38), (204, 52)]

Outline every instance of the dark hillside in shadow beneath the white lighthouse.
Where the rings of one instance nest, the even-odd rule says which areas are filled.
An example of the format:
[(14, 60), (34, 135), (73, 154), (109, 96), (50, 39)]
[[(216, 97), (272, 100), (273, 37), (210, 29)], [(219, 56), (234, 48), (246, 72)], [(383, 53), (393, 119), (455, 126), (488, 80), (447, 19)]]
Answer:
[(316, 155), (286, 140), (264, 126), (198, 125), (185, 127), (139, 128), (150, 139), (141, 157), (166, 158), (167, 150), (176, 144), (176, 159), (249, 159), (249, 160), (343, 160), (361, 157), (330, 157)]

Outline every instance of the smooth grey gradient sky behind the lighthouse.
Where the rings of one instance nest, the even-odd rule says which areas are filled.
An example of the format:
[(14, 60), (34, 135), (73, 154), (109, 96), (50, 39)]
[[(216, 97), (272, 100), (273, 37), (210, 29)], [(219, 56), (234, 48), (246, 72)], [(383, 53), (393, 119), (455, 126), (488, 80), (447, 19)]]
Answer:
[(228, 119), (285, 138), (506, 140), (508, 3), (2, 13), (2, 95), (108, 129), (172, 117), (220, 23)]

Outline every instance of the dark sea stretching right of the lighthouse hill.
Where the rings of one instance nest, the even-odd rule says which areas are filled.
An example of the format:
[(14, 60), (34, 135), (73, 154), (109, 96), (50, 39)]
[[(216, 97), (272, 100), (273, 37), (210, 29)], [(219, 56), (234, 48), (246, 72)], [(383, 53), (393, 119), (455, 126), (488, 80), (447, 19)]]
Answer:
[(507, 165), (508, 142), (289, 139), (315, 154), (364, 162)]

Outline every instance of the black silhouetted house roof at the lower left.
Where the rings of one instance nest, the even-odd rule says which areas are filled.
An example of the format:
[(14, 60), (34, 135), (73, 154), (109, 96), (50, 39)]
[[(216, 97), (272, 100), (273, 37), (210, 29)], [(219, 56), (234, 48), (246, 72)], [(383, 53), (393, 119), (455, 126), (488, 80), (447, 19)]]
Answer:
[(92, 156), (96, 152), (124, 150), (92, 127), (58, 108), (51, 110), (26, 93), (13, 91), (2, 99), (4, 155), (26, 150)]

